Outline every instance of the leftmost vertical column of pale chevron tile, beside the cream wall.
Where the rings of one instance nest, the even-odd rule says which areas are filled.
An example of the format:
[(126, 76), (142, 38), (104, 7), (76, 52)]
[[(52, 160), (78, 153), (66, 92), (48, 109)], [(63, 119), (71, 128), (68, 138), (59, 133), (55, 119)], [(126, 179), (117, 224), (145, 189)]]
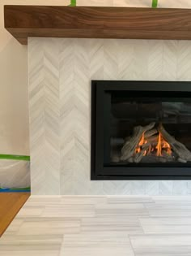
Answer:
[(60, 194), (57, 41), (31, 39), (28, 49), (32, 193)]

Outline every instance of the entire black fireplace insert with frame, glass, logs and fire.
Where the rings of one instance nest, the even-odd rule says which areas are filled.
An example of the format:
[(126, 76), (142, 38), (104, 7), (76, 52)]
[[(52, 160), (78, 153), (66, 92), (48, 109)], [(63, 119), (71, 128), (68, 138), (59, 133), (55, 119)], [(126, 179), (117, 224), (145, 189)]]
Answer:
[(91, 82), (91, 180), (189, 180), (191, 82)]

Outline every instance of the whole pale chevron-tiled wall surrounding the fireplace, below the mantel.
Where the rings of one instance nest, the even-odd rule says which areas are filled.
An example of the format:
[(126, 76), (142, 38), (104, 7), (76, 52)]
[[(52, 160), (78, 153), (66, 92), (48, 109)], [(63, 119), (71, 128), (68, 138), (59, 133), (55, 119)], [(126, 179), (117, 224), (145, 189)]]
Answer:
[(184, 180), (91, 181), (91, 80), (191, 80), (190, 41), (29, 38), (32, 194), (190, 194)]

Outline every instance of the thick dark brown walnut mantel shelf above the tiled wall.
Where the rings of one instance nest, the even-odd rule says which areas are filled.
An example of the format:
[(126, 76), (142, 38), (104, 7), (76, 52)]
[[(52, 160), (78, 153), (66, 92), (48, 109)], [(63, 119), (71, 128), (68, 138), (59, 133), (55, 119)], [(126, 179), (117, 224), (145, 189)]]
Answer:
[(191, 39), (190, 9), (5, 6), (5, 28), (28, 37)]

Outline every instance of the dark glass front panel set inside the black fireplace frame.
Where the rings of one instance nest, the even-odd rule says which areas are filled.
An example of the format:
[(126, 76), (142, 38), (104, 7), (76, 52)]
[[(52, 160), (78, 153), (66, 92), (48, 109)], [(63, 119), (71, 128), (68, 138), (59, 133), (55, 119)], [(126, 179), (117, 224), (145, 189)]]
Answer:
[(104, 164), (190, 165), (191, 101), (187, 97), (180, 92), (105, 92)]

